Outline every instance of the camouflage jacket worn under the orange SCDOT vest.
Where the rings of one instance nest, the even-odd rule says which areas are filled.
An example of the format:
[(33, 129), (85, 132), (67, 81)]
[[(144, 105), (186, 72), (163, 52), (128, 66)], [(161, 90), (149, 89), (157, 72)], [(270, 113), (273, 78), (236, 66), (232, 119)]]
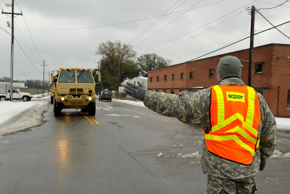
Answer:
[[(221, 79), (216, 85), (245, 86), (245, 83), (239, 78), (228, 78)], [(222, 159), (208, 152), (203, 141), (201, 165), (205, 173), (225, 179), (239, 179), (258, 174), (260, 158), (269, 158), (276, 145), (276, 120), (260, 93), (258, 93), (258, 100), (261, 112), (258, 138), (261, 139), (260, 148), (255, 151), (253, 163), (242, 165)], [(160, 115), (174, 117), (185, 123), (201, 123), (206, 133), (211, 131), (209, 116), (211, 88), (193, 92), (184, 91), (178, 95), (148, 91), (145, 93), (143, 102), (146, 107)]]

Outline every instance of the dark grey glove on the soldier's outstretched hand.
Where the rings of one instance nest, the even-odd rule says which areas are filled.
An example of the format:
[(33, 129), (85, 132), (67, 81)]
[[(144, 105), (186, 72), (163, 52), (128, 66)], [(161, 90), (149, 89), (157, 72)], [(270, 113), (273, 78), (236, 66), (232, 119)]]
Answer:
[(133, 83), (129, 83), (127, 82), (127, 85), (124, 85), (124, 91), (126, 95), (132, 96), (136, 99), (139, 100), (144, 100), (144, 95), (147, 92), (147, 90), (145, 89), (145, 87), (142, 85), (142, 83), (140, 83), (139, 81), (137, 81), (139, 86), (136, 86)]

